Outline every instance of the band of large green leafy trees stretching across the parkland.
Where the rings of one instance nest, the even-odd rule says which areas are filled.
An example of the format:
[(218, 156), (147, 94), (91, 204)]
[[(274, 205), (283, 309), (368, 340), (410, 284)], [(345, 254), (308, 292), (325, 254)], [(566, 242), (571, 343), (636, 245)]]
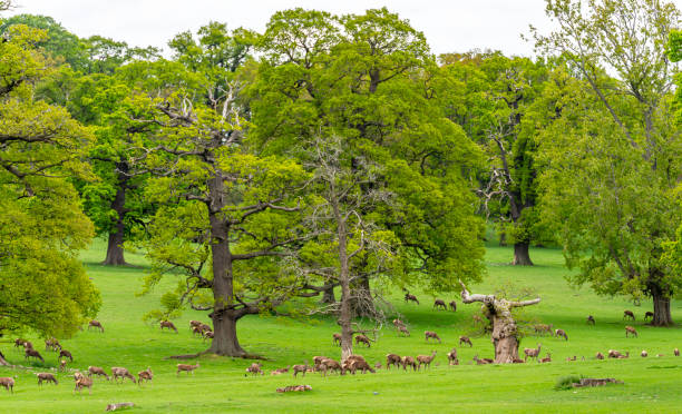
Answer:
[(480, 280), (487, 224), (514, 264), (558, 244), (572, 283), (652, 297), (672, 324), (679, 11), (548, 0), (547, 16), (535, 59), (435, 57), (387, 9), (210, 22), (170, 58), (0, 20), (0, 328), (70, 335), (96, 314), (77, 254), (103, 235), (107, 265), (146, 254), (147, 289), (183, 275), (148, 317), (210, 310), (211, 352), (245, 355), (241, 317), (319, 296), (345, 357), (354, 318), (384, 318), (384, 286)]

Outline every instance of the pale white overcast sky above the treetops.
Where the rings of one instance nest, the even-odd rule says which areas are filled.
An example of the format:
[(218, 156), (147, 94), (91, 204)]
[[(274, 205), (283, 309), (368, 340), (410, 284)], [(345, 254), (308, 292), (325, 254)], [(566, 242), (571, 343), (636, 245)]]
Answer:
[[(682, 2), (682, 0), (680, 0)], [(542, 31), (551, 23), (544, 0), (14, 0), (18, 13), (43, 14), (79, 37), (99, 34), (130, 46), (165, 48), (176, 33), (215, 20), (227, 28), (263, 31), (277, 10), (302, 7), (334, 14), (362, 13), (388, 7), (425, 33), (431, 51), (501, 50), (533, 55), (522, 40), (533, 24)], [(545, 29), (545, 30), (543, 30)]]

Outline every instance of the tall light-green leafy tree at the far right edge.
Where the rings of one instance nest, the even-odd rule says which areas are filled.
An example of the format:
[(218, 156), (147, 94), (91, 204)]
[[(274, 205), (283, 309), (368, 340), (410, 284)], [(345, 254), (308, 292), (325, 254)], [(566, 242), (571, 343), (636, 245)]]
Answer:
[(557, 119), (540, 145), (544, 211), (581, 270), (573, 282), (651, 296), (652, 324), (671, 325), (679, 282), (661, 255), (680, 221), (682, 148), (665, 45), (680, 13), (657, 0), (548, 0), (547, 14), (558, 29), (536, 32), (536, 46), (559, 53), (578, 79), (559, 77), (548, 91)]

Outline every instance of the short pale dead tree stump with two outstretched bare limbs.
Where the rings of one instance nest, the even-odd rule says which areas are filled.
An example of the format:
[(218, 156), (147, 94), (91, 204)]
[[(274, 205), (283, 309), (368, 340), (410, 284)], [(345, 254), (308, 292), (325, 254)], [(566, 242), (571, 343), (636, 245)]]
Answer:
[(469, 294), (461, 280), (459, 284), (461, 285), (461, 302), (465, 304), (483, 303), (483, 313), (493, 324), (490, 339), (495, 346), (495, 363), (510, 364), (514, 359), (518, 359), (518, 328), (512, 309), (538, 304), (540, 298), (515, 302), (498, 298), (495, 295)]

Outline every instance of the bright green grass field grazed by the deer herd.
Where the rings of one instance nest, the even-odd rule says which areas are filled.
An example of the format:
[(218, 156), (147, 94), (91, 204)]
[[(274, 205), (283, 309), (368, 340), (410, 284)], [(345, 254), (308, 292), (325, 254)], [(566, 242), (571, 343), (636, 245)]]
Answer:
[[(487, 337), (472, 338), (474, 347), (457, 346), (459, 335), (471, 324), (471, 315), (478, 305), (462, 305), (458, 295), (440, 297), (446, 302), (456, 298), (457, 313), (436, 312), (432, 297), (415, 292), (421, 305), (406, 305), (396, 289), (392, 303), (405, 315), (412, 336), (399, 337), (392, 327), (384, 328), (382, 336), (369, 349), (358, 353), (373, 365), (386, 364), (384, 355), (429, 354), (438, 352), (428, 372), (398, 372), (382, 369), (367, 375), (308, 374), (305, 378), (285, 376), (245, 377), (244, 369), (251, 361), (204, 356), (194, 375), (175, 374), (176, 361), (164, 361), (168, 355), (203, 351), (206, 344), (193, 337), (188, 321), (205, 322), (205, 314), (187, 312), (178, 321), (179, 334), (160, 332), (158, 326), (145, 325), (142, 316), (158, 305), (159, 293), (136, 297), (144, 274), (144, 260), (128, 256), (140, 268), (105, 268), (98, 265), (104, 256), (104, 243), (97, 243), (84, 254), (89, 275), (101, 290), (103, 308), (98, 315), (106, 333), (82, 332), (71, 339), (61, 341), (75, 357), (71, 368), (87, 369), (88, 365), (125, 366), (137, 373), (150, 366), (154, 383), (139, 387), (96, 379), (92, 394), (72, 395), (74, 381), (70, 375), (59, 374), (58, 386), (38, 387), (33, 372), (57, 366), (55, 353), (43, 352), (42, 341), (33, 339), (36, 348), (46, 357), (45, 365), (35, 364), (30, 371), (0, 367), (0, 376), (17, 375), (14, 394), (0, 390), (2, 413), (96, 413), (109, 403), (133, 402), (135, 413), (232, 413), (232, 412), (295, 412), (295, 413), (383, 413), (401, 410), (405, 413), (475, 413), (475, 412), (537, 412), (537, 413), (674, 413), (682, 412), (682, 357), (672, 356), (674, 347), (682, 348), (682, 331), (652, 328), (641, 321), (651, 303), (641, 307), (623, 298), (601, 298), (587, 288), (571, 288), (564, 275), (559, 250), (535, 249), (532, 258), (536, 266), (517, 268), (507, 266), (512, 257), (509, 248), (488, 247), (486, 260), (489, 276), (480, 285), (470, 286), (472, 293), (491, 293), (507, 283), (515, 286), (534, 287), (543, 302), (527, 309), (527, 315), (543, 323), (564, 328), (568, 342), (554, 337), (528, 337), (522, 347), (543, 344), (542, 355), (552, 353), (549, 364), (514, 364), (505, 366), (477, 366), (471, 364), (475, 354), (490, 357), (493, 346)], [(172, 282), (168, 282), (170, 284)], [(639, 338), (625, 338), (623, 310), (635, 312), (637, 321), (627, 323), (637, 328)], [(672, 304), (673, 318), (682, 322), (682, 302)], [(596, 326), (588, 326), (585, 318), (594, 315)], [(436, 331), (442, 344), (427, 344), (423, 331)], [(331, 335), (337, 332), (331, 319), (289, 319), (272, 316), (249, 316), (238, 325), (240, 341), (245, 349), (266, 356), (266, 371), (310, 361), (313, 355), (339, 358), (340, 351), (332, 346)], [(22, 353), (4, 337), (0, 351), (10, 363), (23, 364)], [(459, 366), (448, 366), (446, 353), (457, 346)], [(595, 361), (597, 351), (610, 348), (630, 352), (631, 358)], [(649, 358), (641, 358), (646, 349)], [(662, 353), (663, 357), (655, 355)], [(577, 355), (578, 361), (566, 362)], [(579, 361), (581, 356), (586, 361)], [(615, 377), (625, 382), (598, 388), (555, 391), (556, 379), (576, 374), (594, 377)], [(275, 393), (275, 388), (293, 384), (310, 384), (312, 392)]]

